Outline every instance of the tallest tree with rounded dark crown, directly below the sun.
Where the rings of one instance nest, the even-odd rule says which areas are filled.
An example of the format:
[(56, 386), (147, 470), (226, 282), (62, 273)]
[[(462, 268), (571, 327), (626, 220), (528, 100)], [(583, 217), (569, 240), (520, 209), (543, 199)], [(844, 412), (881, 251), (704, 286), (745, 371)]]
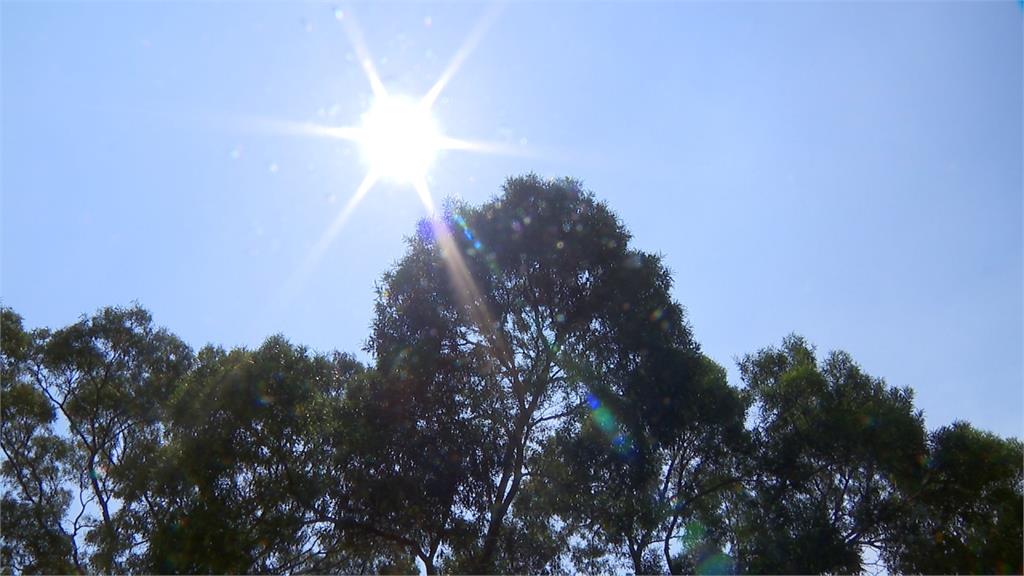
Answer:
[[(532, 462), (560, 424), (587, 414), (589, 396), (628, 406), (606, 444), (640, 455), (671, 429), (671, 403), (697, 377), (699, 349), (659, 258), (629, 241), (578, 182), (526, 176), (479, 208), (425, 223), (385, 276), (370, 349), (411, 410), (388, 423), (443, 414), (427, 429), (473, 454), (449, 475), (449, 499), (464, 513), (438, 517), (465, 516), (475, 530), (454, 568), (505, 568), (498, 548)], [(418, 526), (433, 542), (455, 529)]]

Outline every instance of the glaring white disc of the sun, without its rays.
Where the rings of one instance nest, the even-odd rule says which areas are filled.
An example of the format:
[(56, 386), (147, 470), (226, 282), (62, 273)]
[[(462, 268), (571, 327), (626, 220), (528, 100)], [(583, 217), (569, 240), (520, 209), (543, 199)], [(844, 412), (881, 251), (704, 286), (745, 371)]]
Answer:
[(443, 145), (429, 105), (399, 95), (376, 96), (358, 132), (370, 171), (401, 183), (423, 181)]

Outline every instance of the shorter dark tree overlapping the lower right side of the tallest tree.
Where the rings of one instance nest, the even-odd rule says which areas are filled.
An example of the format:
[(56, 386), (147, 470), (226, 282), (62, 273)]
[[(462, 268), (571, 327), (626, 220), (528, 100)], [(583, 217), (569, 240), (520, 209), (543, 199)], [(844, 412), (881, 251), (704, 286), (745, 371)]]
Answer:
[[(557, 460), (567, 468), (555, 477), (563, 482), (546, 483), (565, 495), (562, 516), (585, 537), (622, 550), (636, 573), (693, 572), (723, 561), (720, 568), (728, 570), (722, 507), (742, 480), (745, 402), (712, 360), (669, 356), (675, 358), (657, 363), (666, 370), (662, 377), (637, 374), (663, 383), (655, 398), (665, 412), (626, 416), (633, 412), (628, 402), (592, 396), (592, 410), (555, 438)], [(691, 362), (696, 365), (685, 366)], [(675, 373), (694, 377), (675, 379)], [(633, 421), (633, 437), (612, 436), (612, 414)]]

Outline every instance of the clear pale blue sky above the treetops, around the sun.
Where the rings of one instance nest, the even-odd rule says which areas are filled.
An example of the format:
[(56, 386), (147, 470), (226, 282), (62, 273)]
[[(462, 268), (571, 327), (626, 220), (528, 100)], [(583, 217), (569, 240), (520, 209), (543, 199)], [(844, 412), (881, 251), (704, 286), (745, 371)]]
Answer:
[[(2, 19), (3, 302), (61, 326), (137, 300), (189, 343), (282, 332), (360, 352), (424, 216), (366, 172), (371, 87), (426, 92), (483, 4), (16, 3)], [(338, 16), (341, 16), (340, 18)], [(916, 390), (930, 427), (1024, 436), (1022, 10), (1016, 2), (511, 3), (435, 107), (438, 197), (582, 179), (665, 255), (698, 340), (798, 332)]]

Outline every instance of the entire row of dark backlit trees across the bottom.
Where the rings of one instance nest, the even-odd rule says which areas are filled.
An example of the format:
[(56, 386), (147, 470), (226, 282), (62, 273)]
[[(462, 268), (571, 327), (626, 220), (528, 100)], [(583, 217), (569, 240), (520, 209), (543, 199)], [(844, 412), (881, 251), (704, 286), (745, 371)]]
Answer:
[(1022, 571), (1018, 440), (929, 433), (909, 388), (796, 336), (730, 385), (671, 287), (578, 183), (527, 176), (409, 240), (373, 366), (5, 308), (3, 567)]

